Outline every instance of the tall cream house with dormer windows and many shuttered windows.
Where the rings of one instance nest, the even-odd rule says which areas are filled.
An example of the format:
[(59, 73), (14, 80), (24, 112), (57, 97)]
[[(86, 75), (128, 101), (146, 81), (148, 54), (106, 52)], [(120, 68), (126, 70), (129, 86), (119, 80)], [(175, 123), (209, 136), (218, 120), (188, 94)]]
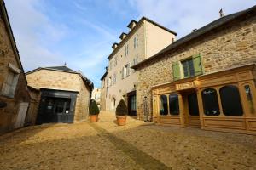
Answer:
[(127, 27), (129, 33), (121, 33), (120, 42), (113, 43), (113, 52), (108, 56), (106, 110), (114, 112), (120, 99), (125, 99), (129, 115), (136, 116), (136, 100), (140, 96), (136, 95), (137, 72), (131, 66), (166, 48), (177, 33), (145, 17), (131, 20)]

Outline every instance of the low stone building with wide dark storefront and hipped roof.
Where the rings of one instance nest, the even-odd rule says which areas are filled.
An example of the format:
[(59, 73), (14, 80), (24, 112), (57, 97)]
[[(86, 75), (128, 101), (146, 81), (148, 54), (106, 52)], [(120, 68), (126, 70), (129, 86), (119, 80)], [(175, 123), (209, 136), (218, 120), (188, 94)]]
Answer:
[(28, 85), (40, 90), (36, 122), (77, 122), (89, 115), (93, 83), (64, 66), (39, 67), (26, 72)]

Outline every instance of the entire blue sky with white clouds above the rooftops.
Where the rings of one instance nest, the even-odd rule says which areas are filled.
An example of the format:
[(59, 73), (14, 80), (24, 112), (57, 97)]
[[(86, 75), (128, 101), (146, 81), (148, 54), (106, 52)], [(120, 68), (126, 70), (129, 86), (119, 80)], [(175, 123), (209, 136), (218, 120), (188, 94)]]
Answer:
[(113, 42), (143, 15), (177, 38), (255, 0), (5, 0), (25, 71), (64, 65), (83, 71), (100, 87)]

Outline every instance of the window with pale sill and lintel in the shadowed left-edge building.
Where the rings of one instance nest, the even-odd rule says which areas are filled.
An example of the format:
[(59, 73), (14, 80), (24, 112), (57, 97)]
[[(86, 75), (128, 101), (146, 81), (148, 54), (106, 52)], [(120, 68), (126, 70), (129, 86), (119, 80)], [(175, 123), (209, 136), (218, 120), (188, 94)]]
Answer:
[(3, 82), (2, 94), (13, 98), (15, 96), (15, 90), (18, 83), (20, 69), (15, 65), (9, 63), (9, 73), (6, 80)]

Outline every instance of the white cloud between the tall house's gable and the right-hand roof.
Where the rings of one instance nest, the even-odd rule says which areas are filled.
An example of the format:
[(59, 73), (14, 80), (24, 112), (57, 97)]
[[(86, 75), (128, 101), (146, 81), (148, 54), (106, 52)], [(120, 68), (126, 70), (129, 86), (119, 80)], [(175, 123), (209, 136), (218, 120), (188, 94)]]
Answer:
[(231, 14), (255, 5), (255, 0), (130, 0), (140, 16), (145, 15), (167, 26), (183, 37), (195, 28), (207, 25), (219, 17), (218, 11)]

